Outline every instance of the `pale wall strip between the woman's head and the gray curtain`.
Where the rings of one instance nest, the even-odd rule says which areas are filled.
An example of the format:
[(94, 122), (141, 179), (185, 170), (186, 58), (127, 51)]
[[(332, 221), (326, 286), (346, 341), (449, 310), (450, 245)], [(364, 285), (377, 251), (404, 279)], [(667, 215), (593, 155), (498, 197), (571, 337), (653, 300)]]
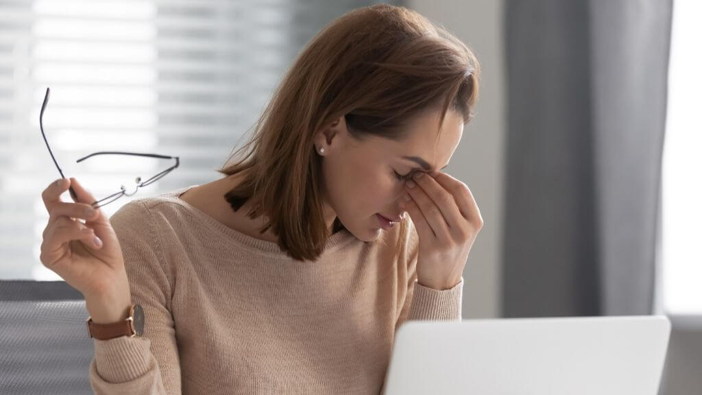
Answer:
[(502, 0), (410, 0), (407, 8), (446, 27), (475, 52), (481, 67), (475, 119), (448, 172), (468, 184), (485, 222), (465, 265), (463, 318), (501, 316), (501, 242), (505, 65)]

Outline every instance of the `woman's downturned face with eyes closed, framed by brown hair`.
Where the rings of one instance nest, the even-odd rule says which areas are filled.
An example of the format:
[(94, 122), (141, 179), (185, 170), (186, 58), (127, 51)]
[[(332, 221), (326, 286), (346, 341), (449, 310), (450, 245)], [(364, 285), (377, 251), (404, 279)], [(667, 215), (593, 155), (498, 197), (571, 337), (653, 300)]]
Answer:
[(356, 238), (368, 242), (383, 231), (378, 214), (399, 219), (399, 199), (406, 181), (402, 176), (446, 167), (461, 141), (463, 117), (455, 110), (446, 112), (442, 136), (436, 141), (440, 115), (439, 110), (430, 110), (411, 119), (402, 141), (377, 136), (357, 141), (349, 134), (344, 117), (320, 131), (314, 144), (317, 155), (323, 157), (327, 228), (331, 229), (338, 216)]

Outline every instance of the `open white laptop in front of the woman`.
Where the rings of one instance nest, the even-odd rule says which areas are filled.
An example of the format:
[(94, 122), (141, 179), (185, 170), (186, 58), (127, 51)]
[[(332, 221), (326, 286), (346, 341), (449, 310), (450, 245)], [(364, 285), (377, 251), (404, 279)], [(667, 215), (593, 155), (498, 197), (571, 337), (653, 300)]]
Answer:
[(385, 395), (655, 395), (666, 316), (406, 321)]

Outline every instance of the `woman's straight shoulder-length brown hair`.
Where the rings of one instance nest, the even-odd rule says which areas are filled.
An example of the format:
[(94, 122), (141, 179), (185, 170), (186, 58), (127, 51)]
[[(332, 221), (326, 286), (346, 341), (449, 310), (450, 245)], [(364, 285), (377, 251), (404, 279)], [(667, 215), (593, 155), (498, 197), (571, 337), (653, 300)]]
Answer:
[[(260, 233), (272, 228), (289, 256), (316, 260), (331, 234), (322, 212), (322, 159), (314, 135), (344, 116), (355, 138), (373, 134), (398, 141), (407, 119), (434, 108), (442, 111), (439, 125), (449, 108), (467, 123), (478, 80), (470, 49), (416, 11), (378, 4), (347, 12), (298, 55), (253, 138), (234, 153), (245, 155), (217, 170), (227, 176), (245, 171), (225, 199), (237, 211), (253, 198), (247, 216), (265, 213), (268, 219)], [(334, 224), (333, 231), (343, 228), (338, 218)]]

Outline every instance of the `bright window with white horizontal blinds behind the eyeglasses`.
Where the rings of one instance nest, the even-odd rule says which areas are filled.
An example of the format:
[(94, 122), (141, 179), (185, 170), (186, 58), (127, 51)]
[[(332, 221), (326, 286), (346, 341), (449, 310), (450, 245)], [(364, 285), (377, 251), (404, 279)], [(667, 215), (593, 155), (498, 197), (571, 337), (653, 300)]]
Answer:
[[(0, 278), (59, 280), (39, 261), (60, 174), (101, 199), (173, 162), (132, 199), (220, 178), (293, 58), (326, 23), (375, 1), (0, 0)], [(244, 136), (246, 134), (246, 136)], [(66, 193), (64, 201), (70, 200)]]

